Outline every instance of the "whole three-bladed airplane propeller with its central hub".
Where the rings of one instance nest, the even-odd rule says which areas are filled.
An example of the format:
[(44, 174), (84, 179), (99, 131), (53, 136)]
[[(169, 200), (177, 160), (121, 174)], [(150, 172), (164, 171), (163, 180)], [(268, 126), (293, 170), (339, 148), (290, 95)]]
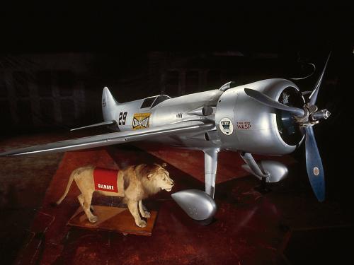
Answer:
[(319, 88), (329, 62), (329, 57), (331, 57), (331, 52), (327, 57), (326, 64), (324, 65), (324, 69), (316, 82), (314, 90), (312, 90), (311, 95), (309, 95), (309, 102), (304, 105), (303, 109), (284, 105), (257, 90), (244, 88), (245, 93), (254, 100), (257, 100), (258, 102), (261, 102), (269, 107), (290, 112), (294, 116), (300, 128), (304, 130), (307, 175), (309, 177), (312, 190), (319, 201), (324, 201), (325, 197), (324, 167), (322, 165), (321, 156), (319, 155), (316, 139), (314, 138), (314, 130), (312, 126), (318, 124), (319, 119), (327, 119), (331, 114), (328, 110), (318, 111), (318, 107), (315, 105)]

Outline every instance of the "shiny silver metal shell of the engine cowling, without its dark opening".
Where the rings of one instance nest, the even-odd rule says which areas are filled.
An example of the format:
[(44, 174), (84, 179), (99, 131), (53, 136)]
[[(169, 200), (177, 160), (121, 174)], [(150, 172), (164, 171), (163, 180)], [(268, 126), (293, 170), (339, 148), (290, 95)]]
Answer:
[[(219, 98), (215, 114), (215, 126), (222, 143), (220, 149), (263, 155), (285, 155), (295, 151), (297, 146), (288, 145), (280, 136), (274, 108), (257, 102), (244, 91), (244, 88), (258, 90), (276, 101), (289, 87), (299, 90), (291, 81), (267, 79), (225, 91)], [(229, 135), (220, 130), (220, 122), (225, 117), (234, 126)]]

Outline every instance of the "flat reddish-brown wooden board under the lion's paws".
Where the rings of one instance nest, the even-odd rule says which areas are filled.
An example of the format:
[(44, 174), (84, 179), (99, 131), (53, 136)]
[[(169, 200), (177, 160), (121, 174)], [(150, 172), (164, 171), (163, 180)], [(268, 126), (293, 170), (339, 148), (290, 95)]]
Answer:
[(152, 228), (156, 220), (157, 212), (150, 211), (150, 218), (147, 219), (147, 226), (139, 228), (135, 225), (135, 220), (127, 208), (95, 206), (94, 215), (98, 217), (96, 223), (90, 223), (81, 206), (76, 210), (74, 216), (70, 218), (67, 225), (93, 230), (108, 230), (122, 232), (124, 235), (152, 235)]

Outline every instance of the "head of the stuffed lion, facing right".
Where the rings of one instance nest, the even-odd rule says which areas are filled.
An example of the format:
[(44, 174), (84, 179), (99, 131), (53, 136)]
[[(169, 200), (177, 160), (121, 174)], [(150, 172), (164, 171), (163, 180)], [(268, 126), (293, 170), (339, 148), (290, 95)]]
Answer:
[(165, 170), (164, 167), (166, 167), (166, 163), (162, 165), (154, 164), (149, 175), (147, 175), (147, 179), (149, 179), (149, 182), (151, 182), (154, 187), (171, 192), (174, 182), (169, 176), (169, 172)]

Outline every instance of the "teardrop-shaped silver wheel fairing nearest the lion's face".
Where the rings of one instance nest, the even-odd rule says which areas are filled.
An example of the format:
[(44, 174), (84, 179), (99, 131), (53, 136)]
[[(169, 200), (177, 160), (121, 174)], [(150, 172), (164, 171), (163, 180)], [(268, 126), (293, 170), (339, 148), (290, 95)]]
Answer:
[(212, 197), (199, 189), (176, 192), (172, 194), (172, 198), (194, 220), (206, 220), (217, 212), (217, 205)]

